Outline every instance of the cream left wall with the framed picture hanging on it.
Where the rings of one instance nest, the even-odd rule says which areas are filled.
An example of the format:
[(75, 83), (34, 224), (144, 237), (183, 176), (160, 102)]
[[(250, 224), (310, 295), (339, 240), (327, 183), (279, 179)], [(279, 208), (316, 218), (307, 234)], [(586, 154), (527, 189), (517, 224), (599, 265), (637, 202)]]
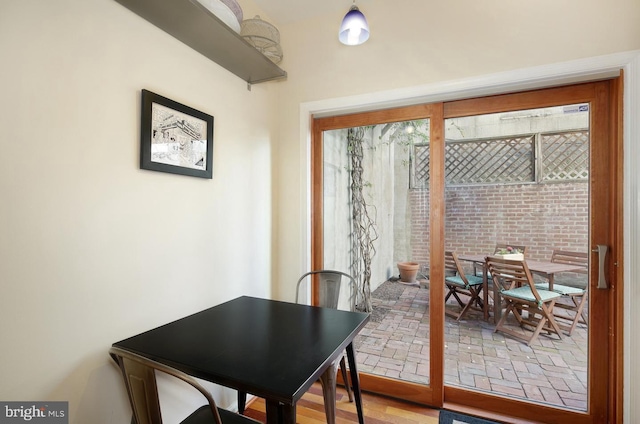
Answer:
[[(0, 400), (129, 422), (111, 343), (271, 296), (276, 86), (112, 0), (3, 0), (0, 54)], [(139, 169), (143, 88), (214, 116), (212, 180)]]

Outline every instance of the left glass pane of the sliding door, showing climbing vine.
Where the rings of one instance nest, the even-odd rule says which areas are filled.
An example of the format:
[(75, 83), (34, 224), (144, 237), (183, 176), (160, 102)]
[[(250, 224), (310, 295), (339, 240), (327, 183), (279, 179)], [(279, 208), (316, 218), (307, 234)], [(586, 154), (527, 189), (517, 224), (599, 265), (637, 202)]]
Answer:
[[(355, 341), (358, 368), (423, 384), (429, 383), (428, 163), (418, 171), (415, 155), (428, 142), (428, 119), (323, 135), (324, 267), (351, 273), (358, 309), (372, 314)], [(416, 182), (420, 188), (412, 188)], [(415, 263), (414, 275), (401, 279), (399, 262)]]

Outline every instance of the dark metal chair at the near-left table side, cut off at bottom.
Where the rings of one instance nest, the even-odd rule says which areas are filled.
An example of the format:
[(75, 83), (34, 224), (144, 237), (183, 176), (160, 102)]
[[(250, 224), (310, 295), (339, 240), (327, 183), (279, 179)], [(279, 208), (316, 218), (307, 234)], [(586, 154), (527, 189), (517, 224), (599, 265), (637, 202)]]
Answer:
[(133, 411), (132, 423), (162, 424), (160, 399), (156, 372), (178, 378), (197, 389), (207, 399), (207, 404), (196, 409), (180, 424), (258, 424), (251, 418), (218, 408), (213, 396), (193, 377), (175, 368), (137, 355), (133, 352), (112, 347), (109, 354), (118, 364), (124, 378)]

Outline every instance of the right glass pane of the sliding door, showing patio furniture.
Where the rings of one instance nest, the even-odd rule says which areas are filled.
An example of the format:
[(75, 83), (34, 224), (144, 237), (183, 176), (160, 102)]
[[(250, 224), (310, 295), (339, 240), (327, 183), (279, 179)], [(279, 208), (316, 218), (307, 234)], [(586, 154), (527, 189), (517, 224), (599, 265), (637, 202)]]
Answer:
[[(445, 384), (585, 411), (586, 265), (545, 272), (552, 271), (554, 251), (579, 252), (569, 261), (586, 261), (589, 105), (447, 119), (445, 139), (445, 249), (460, 265), (453, 262), (448, 275), (455, 277), (445, 284), (445, 295), (452, 293), (445, 305)], [(483, 281), (483, 258), (496, 253), (524, 259), (534, 288), (498, 270)], [(493, 277), (504, 286), (495, 287)], [(545, 298), (554, 298), (555, 306), (537, 298), (533, 306), (526, 303), (534, 291), (539, 298), (550, 293)], [(574, 302), (583, 300), (577, 314)], [(543, 303), (561, 337), (542, 330), (532, 340), (545, 318), (537, 309)]]

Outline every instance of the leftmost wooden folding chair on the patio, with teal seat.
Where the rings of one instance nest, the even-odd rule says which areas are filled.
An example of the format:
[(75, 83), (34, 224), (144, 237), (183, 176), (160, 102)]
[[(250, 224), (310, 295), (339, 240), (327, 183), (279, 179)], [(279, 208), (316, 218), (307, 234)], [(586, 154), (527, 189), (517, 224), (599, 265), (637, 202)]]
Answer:
[[(444, 298), (445, 304), (451, 296), (457, 301), (462, 310), (460, 313), (448, 311), (445, 308), (445, 314), (454, 317), (460, 321), (471, 308), (476, 308), (484, 312), (484, 305), (480, 294), (483, 287), (483, 278), (477, 275), (465, 274), (464, 269), (460, 265), (458, 256), (455, 252), (444, 252), (445, 273), (450, 271), (453, 275), (445, 275), (444, 283), (449, 290)], [(463, 302), (460, 295), (468, 297), (469, 300)]]

